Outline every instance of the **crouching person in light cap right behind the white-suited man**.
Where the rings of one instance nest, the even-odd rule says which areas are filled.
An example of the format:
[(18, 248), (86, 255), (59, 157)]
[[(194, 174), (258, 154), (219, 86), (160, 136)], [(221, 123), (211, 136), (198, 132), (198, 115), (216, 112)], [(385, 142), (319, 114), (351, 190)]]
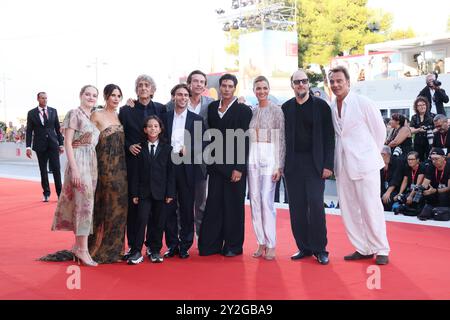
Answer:
[(402, 161), (391, 156), (391, 148), (384, 146), (381, 150), (384, 168), (380, 170), (381, 201), (384, 211), (391, 211), (394, 197), (398, 193), (402, 174)]

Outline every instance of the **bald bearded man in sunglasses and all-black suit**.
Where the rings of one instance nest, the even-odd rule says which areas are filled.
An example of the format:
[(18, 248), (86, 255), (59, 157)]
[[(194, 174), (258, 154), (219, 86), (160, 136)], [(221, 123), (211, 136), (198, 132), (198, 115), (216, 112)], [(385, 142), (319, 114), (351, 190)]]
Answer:
[(299, 251), (291, 259), (316, 256), (328, 264), (323, 207), (325, 179), (333, 174), (334, 129), (328, 104), (310, 94), (303, 70), (291, 76), (295, 98), (282, 105), (285, 119), (284, 175), (289, 191), (292, 233)]

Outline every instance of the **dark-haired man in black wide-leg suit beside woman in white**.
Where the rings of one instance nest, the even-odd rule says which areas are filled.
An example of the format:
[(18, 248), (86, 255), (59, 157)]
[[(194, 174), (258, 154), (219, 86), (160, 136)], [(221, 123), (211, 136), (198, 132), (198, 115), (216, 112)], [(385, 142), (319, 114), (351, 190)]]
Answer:
[[(237, 79), (224, 74), (219, 79), (221, 100), (211, 102), (208, 125), (212, 142), (208, 151), (208, 197), (198, 242), (202, 256), (222, 253), (242, 254), (244, 243), (244, 201), (249, 140), (246, 135), (252, 118), (248, 106), (234, 96)], [(220, 133), (220, 136), (219, 136)]]

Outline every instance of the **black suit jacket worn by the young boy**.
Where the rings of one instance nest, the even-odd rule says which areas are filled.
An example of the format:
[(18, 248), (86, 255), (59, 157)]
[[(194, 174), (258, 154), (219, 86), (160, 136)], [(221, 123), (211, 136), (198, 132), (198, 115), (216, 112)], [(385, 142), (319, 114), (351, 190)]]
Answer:
[(148, 142), (141, 143), (141, 152), (134, 158), (131, 168), (132, 198), (152, 196), (155, 200), (175, 197), (175, 176), (171, 160), (172, 147), (159, 140), (155, 158), (150, 160)]

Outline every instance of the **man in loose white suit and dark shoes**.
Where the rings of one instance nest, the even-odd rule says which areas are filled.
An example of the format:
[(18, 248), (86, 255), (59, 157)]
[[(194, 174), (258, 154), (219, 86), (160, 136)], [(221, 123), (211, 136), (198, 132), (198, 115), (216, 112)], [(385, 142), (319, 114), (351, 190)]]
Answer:
[(356, 248), (345, 260), (371, 259), (389, 262), (386, 222), (380, 200), (380, 169), (386, 127), (375, 103), (350, 91), (344, 67), (329, 72), (336, 132), (335, 175), (339, 205), (350, 242)]

